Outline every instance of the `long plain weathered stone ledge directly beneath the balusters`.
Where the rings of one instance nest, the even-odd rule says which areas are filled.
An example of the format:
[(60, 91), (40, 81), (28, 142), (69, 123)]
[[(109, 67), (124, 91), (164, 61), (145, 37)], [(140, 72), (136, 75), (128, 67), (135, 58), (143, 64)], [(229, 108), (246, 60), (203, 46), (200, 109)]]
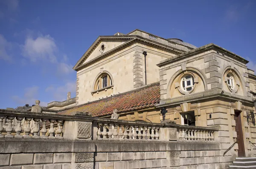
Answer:
[(46, 152), (145, 152), (220, 150), (214, 141), (119, 141), (56, 140), (34, 138), (0, 139), (0, 153)]

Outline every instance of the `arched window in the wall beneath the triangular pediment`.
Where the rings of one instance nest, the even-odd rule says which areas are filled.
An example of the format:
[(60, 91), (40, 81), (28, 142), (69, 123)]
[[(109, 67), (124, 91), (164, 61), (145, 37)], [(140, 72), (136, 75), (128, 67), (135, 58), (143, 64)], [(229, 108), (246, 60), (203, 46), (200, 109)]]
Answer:
[(95, 82), (94, 90), (100, 90), (105, 87), (111, 86), (112, 80), (108, 73), (102, 73)]

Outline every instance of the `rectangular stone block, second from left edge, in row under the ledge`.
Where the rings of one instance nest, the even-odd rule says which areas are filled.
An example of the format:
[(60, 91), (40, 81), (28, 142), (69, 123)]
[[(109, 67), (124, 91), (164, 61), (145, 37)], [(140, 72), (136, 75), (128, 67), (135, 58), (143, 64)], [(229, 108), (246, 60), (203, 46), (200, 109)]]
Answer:
[(32, 164), (33, 154), (12, 154), (10, 165)]

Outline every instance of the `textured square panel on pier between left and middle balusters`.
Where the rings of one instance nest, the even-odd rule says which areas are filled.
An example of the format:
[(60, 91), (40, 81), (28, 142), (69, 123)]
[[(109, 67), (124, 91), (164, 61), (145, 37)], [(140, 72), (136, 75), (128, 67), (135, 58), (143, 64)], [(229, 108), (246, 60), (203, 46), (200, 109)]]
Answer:
[(90, 138), (92, 124), (87, 122), (77, 122), (77, 138)]

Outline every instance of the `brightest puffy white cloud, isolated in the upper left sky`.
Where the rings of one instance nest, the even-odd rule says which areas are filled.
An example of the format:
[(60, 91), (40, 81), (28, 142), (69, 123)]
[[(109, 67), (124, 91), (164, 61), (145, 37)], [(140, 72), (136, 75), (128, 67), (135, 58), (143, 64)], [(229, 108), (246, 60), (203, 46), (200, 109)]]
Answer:
[(32, 62), (49, 60), (49, 62), (55, 63), (57, 62), (55, 56), (57, 50), (55, 40), (50, 35), (39, 36), (36, 39), (29, 36), (23, 45), (23, 56)]

